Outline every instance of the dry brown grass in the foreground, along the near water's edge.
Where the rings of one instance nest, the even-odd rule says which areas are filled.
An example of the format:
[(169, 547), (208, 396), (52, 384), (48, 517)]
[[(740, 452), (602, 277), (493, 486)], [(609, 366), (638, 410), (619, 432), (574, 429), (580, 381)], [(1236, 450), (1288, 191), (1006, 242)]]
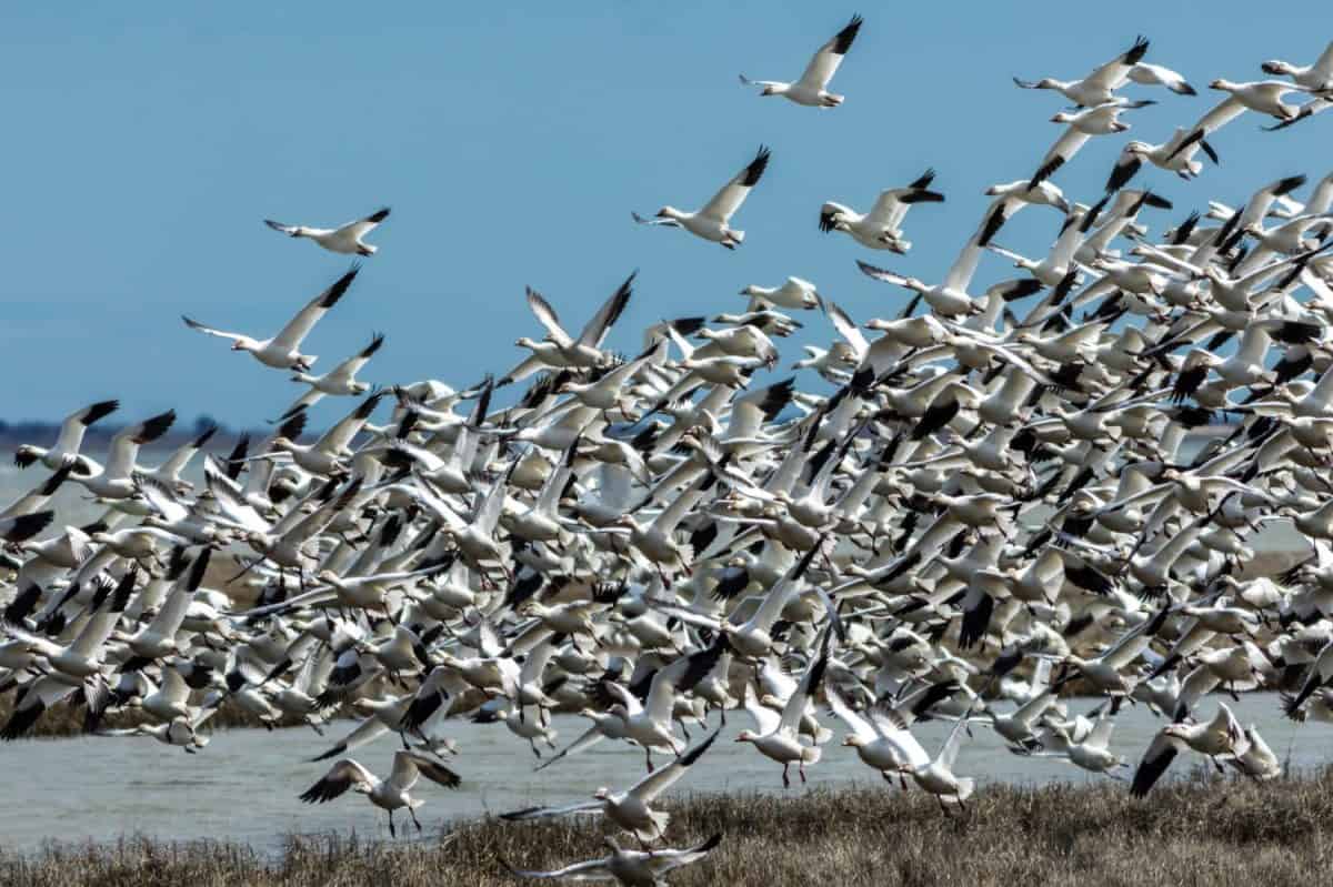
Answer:
[[(982, 790), (948, 816), (918, 791), (693, 795), (673, 804), (674, 843), (722, 832), (673, 884), (1312, 883), (1333, 859), (1333, 768), (1268, 784), (1181, 782), (1133, 800), (1120, 783)], [(0, 883), (49, 887), (477, 887), (512, 884), (504, 858), (556, 867), (600, 852), (597, 820), (457, 826), (439, 843), (293, 838), (276, 855), (228, 843), (0, 851)]]

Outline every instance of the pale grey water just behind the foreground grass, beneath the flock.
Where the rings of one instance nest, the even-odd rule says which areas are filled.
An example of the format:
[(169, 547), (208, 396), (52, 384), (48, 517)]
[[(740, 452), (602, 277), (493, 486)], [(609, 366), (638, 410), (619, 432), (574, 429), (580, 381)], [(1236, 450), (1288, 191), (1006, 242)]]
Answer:
[[(1216, 701), (1213, 697), (1205, 699), (1200, 705), (1200, 715), (1212, 715)], [(1070, 701), (1070, 713), (1086, 711), (1094, 702)], [(1276, 695), (1248, 694), (1232, 707), (1242, 723), (1258, 726), (1280, 758), (1286, 756), (1290, 746), (1294, 766), (1310, 767), (1330, 759), (1326, 739), (1333, 735), (1333, 727), (1317, 723), (1297, 726), (1284, 721)], [(834, 730), (834, 739), (824, 746), (826, 758), (808, 768), (809, 787), (882, 786), (852, 748), (841, 747), (845, 733), (841, 723), (832, 718), (822, 721)], [(336, 722), (324, 739), (304, 729), (275, 733), (220, 730), (197, 755), (143, 737), (8, 743), (0, 746), (5, 774), (0, 840), (12, 848), (32, 850), (52, 839), (107, 840), (144, 834), (173, 840), (233, 839), (276, 850), (284, 835), (297, 832), (355, 830), (363, 835), (388, 838), (385, 815), (355, 794), (316, 806), (297, 799), (328, 767), (328, 762), (311, 763), (307, 759), (331, 747), (351, 726), (352, 722)], [(587, 722), (559, 717), (556, 726), (560, 731), (557, 743), (563, 747), (584, 730)], [(677, 783), (676, 790), (782, 792), (781, 767), (749, 744), (732, 742), (741, 729), (752, 726), (744, 711), (730, 713), (722, 735)], [(1137, 762), (1161, 726), (1162, 722), (1145, 706), (1126, 706), (1117, 717), (1112, 750), (1132, 763)], [(949, 727), (946, 722), (926, 723), (913, 731), (933, 752)], [(463, 786), (449, 791), (433, 783), (419, 783), (417, 795), (425, 800), (419, 815), (428, 832), (453, 819), (529, 804), (584, 800), (599, 786), (624, 788), (644, 774), (641, 751), (625, 743), (604, 740), (580, 755), (533, 772), (537, 762), (527, 742), (503, 725), (457, 721), (449, 722), (444, 733), (459, 740), (460, 754), (453, 759), (453, 767), (463, 776)], [(701, 734), (692, 731), (692, 735), (697, 742)], [(352, 756), (372, 771), (388, 775), (397, 747), (397, 738), (385, 735), (355, 750)], [(1188, 772), (1198, 760), (1197, 756), (1177, 760), (1174, 771)], [(965, 739), (956, 771), (981, 782), (1104, 779), (1064, 762), (1014, 756), (1002, 748), (988, 727), (980, 725), (973, 727), (973, 738)], [(794, 768), (792, 779), (789, 794), (798, 795), (808, 790), (800, 784)], [(401, 838), (404, 823), (401, 819), (397, 822)]]

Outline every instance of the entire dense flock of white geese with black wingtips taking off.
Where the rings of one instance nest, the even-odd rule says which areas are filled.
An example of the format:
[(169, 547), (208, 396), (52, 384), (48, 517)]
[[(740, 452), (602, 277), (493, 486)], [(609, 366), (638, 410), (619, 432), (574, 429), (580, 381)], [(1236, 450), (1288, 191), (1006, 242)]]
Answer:
[[(837, 108), (829, 81), (860, 28), (852, 19), (794, 83), (741, 80)], [(1157, 234), (1140, 216), (1172, 204), (1128, 185), (1145, 161), (1198, 176), (1196, 153), (1217, 162), (1218, 129), (1245, 112), (1272, 129), (1322, 112), (1333, 45), (1309, 67), (1262, 64), (1286, 80), (1214, 80), (1216, 107), (1162, 144), (1126, 144), (1092, 205), (1066, 198), (1060, 169), (1152, 104), (1121, 88), (1196, 95), (1144, 61), (1148, 49), (1140, 39), (1081, 80), (1017, 81), (1076, 108), (1052, 117), (1064, 131), (1029, 177), (986, 192), (942, 282), (858, 262), (910, 292), (896, 317), (857, 325), (790, 277), (745, 288), (744, 313), (656, 324), (627, 358), (604, 340), (633, 276), (577, 334), (529, 289), (544, 336), (520, 338), (513, 369), (464, 390), (371, 389), (357, 374), (381, 336), (312, 374), (304, 342), (356, 266), (271, 338), (185, 318), (295, 373), (305, 393), (268, 440), (205, 454), (200, 485), (181, 473), (208, 434), (157, 467), (139, 463), (173, 413), (120, 430), (104, 465), (80, 445), (115, 401), (69, 416), (48, 449), (19, 447), (20, 466), (52, 474), (0, 513), (12, 573), (0, 735), (27, 734), (61, 702), (85, 709), (91, 733), (187, 752), (227, 706), (321, 735), (332, 714), (353, 714), (357, 726), (315, 758), (337, 763), (301, 799), (355, 790), (388, 811), (391, 831), (403, 810), (420, 828), (421, 776), (459, 786), (447, 756), (465, 750), (449, 718), (500, 725), (539, 770), (627, 743), (647, 764), (637, 783), (504, 815), (604, 815), (640, 850), (608, 840), (605, 858), (515, 874), (625, 884), (663, 883), (718, 843), (655, 848), (669, 826), (659, 799), (706, 760), (734, 710), (753, 727), (736, 742), (780, 764), (784, 784), (820, 762), (836, 719), (890, 787), (914, 783), (945, 810), (973, 792), (956, 772), (970, 725), (1016, 755), (1124, 778), (1112, 734), (1125, 705), (1164, 725), (1125, 774), (1136, 795), (1188, 752), (1276, 776), (1256, 729), (1205, 697), (1282, 689), (1289, 717), (1333, 721), (1333, 174), (1305, 202), (1306, 177), (1293, 174)], [(1286, 104), (1292, 93), (1305, 103)], [(635, 218), (736, 249), (733, 217), (769, 160), (760, 149), (697, 212)], [(818, 228), (906, 253), (908, 210), (944, 200), (933, 180), (889, 188), (864, 214), (826, 202)], [(1025, 206), (1050, 213), (1046, 256), (996, 242)], [(365, 237), (388, 214), (268, 225), (369, 257)], [(1017, 273), (974, 293), (986, 253)], [(796, 364), (829, 396), (756, 377), (800, 312), (836, 330)], [(492, 408), (520, 382), (513, 406)], [(299, 442), (323, 397), (361, 400)], [(381, 405), (392, 413), (376, 425)], [(1185, 457), (1186, 437), (1208, 440)], [(108, 510), (47, 534), (48, 499), (67, 482)], [(1274, 521), (1310, 553), (1282, 575), (1249, 575), (1254, 534)], [(1070, 690), (1096, 707), (1070, 715)], [(143, 726), (105, 726), (127, 710)], [(544, 756), (559, 747), (557, 711), (588, 727)], [(710, 719), (717, 729), (690, 744), (688, 727)], [(942, 747), (913, 735), (925, 719), (954, 721)], [(401, 739), (388, 778), (344, 758), (388, 733)]]

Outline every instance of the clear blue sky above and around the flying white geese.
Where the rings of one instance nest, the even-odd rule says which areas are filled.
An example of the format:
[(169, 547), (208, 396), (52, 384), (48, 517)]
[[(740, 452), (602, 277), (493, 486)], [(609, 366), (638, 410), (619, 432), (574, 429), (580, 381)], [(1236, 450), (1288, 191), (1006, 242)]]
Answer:
[[(297, 390), (285, 374), (179, 320), (267, 336), (345, 269), (264, 217), (337, 224), (393, 208), (380, 254), (307, 348), (328, 369), (384, 332), (373, 382), (504, 372), (521, 357), (513, 340), (540, 332), (524, 285), (577, 328), (635, 268), (612, 338), (627, 352), (648, 322), (736, 309), (741, 286), (788, 274), (858, 321), (889, 316), (905, 294), (853, 258), (940, 278), (981, 190), (1029, 174), (1058, 136), (1048, 120), (1062, 100), (1010, 75), (1082, 76), (1142, 32), (1149, 61), (1200, 87), (1194, 99), (1126, 91), (1161, 104), (1056, 176), (1090, 202), (1124, 140), (1161, 141), (1197, 119), (1220, 96), (1212, 79), (1262, 79), (1262, 60), (1305, 64), (1333, 39), (1318, 4), (1272, 17), (1238, 4), (865, 4), (834, 81), (848, 101), (825, 112), (758, 99), (736, 75), (794, 79), (853, 5), (279, 5), (7, 11), (0, 418), (57, 418), (103, 397), (120, 397), (127, 418), (167, 406), (272, 417)], [(1141, 174), (1177, 205), (1153, 226), (1328, 172), (1333, 115), (1281, 133), (1260, 123), (1245, 115), (1218, 133), (1222, 166), (1194, 184)], [(631, 222), (631, 209), (701, 204), (760, 143), (773, 162), (737, 217), (748, 240), (736, 253)], [(824, 200), (865, 208), (932, 165), (948, 202), (912, 212), (909, 256), (817, 230)], [(1058, 224), (1029, 210), (998, 240), (1037, 253)], [(978, 285), (1012, 270), (988, 258)], [(810, 341), (832, 336), (822, 317), (802, 320)], [(349, 405), (325, 401), (321, 421)]]

